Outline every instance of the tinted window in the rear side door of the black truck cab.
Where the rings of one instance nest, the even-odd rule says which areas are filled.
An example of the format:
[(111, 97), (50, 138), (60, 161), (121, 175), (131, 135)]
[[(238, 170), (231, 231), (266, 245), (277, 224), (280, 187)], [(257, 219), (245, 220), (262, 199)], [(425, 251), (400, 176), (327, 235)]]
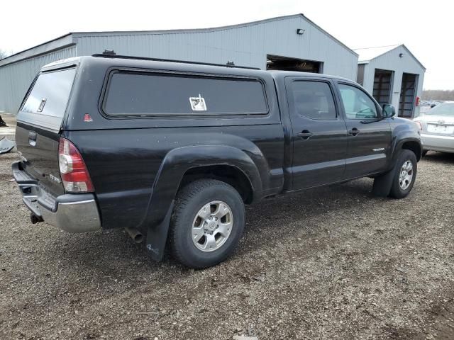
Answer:
[(314, 120), (336, 120), (336, 106), (328, 83), (323, 81), (294, 81), (294, 108), (298, 115)]

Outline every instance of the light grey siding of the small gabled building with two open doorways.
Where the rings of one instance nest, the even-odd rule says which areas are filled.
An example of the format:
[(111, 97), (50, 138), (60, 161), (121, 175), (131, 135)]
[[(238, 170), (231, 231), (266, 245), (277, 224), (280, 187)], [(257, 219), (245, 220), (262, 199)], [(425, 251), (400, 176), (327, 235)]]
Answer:
[[(399, 57), (400, 53), (403, 53), (404, 57)], [(376, 57), (375, 59), (370, 60), (368, 64), (365, 64), (363, 86), (371, 94), (374, 88), (375, 69), (394, 71), (394, 79), (392, 81), (392, 105), (395, 108), (399, 108), (402, 74), (404, 72), (418, 74), (416, 96), (421, 97), (424, 73), (426, 70), (413, 56), (409, 55), (409, 52), (403, 46), (399, 46), (394, 50), (384, 53), (384, 55), (380, 55), (380, 57)], [(415, 109), (414, 115), (419, 115), (419, 108)]]

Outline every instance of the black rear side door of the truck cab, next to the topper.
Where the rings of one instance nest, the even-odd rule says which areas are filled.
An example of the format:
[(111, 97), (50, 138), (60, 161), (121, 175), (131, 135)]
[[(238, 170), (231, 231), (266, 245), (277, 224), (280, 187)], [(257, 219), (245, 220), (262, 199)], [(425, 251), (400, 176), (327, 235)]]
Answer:
[(287, 77), (292, 122), (293, 189), (341, 181), (347, 128), (328, 79)]

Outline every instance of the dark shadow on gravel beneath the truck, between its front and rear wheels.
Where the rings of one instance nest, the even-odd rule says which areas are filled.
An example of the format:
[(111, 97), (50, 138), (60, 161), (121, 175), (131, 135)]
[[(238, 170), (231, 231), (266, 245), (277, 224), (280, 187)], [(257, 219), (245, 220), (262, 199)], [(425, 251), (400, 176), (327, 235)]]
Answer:
[[(243, 244), (271, 245), (277, 239), (310, 237), (325, 232), (326, 215), (342, 215), (358, 205), (370, 204), (382, 198), (372, 196), (372, 180), (360, 179), (348, 183), (312, 188), (288, 196), (270, 198), (250, 205), (246, 212)], [(293, 236), (294, 237), (294, 236)], [(244, 254), (247, 249), (240, 248)]]

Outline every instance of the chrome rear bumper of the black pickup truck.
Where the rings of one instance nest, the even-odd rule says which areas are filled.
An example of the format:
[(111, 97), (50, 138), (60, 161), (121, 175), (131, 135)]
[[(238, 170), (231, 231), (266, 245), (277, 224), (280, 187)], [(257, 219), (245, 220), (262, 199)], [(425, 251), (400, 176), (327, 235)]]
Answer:
[(23, 203), (33, 215), (67, 232), (101, 229), (98, 207), (92, 193), (54, 197), (23, 171), (20, 163), (13, 163), (13, 176), (21, 191)]

